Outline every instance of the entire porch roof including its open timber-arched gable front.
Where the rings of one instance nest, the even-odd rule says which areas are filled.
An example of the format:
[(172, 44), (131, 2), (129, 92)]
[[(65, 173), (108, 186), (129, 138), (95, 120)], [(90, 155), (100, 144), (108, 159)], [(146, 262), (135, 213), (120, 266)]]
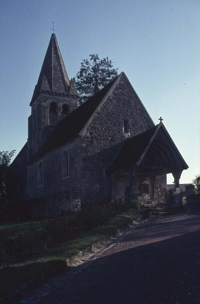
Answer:
[(126, 139), (107, 173), (130, 167), (145, 175), (161, 175), (188, 168), (162, 122)]

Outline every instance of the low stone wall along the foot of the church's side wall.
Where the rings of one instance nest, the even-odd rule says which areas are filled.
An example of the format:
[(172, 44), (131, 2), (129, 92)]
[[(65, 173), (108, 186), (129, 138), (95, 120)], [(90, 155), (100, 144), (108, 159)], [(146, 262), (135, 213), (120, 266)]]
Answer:
[(81, 208), (80, 198), (67, 192), (35, 198), (27, 201), (29, 217), (48, 218), (59, 216), (64, 211), (78, 211)]

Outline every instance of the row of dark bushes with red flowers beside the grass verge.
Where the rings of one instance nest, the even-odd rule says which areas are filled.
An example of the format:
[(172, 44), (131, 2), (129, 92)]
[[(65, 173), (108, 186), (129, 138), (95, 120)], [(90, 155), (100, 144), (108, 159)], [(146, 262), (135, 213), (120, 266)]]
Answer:
[(37, 256), (42, 250), (74, 239), (80, 232), (94, 229), (109, 218), (132, 207), (123, 200), (104, 200), (101, 205), (86, 206), (80, 211), (66, 212), (62, 216), (41, 221), (39, 229), (12, 236), (8, 229), (0, 230), (0, 263), (18, 262)]

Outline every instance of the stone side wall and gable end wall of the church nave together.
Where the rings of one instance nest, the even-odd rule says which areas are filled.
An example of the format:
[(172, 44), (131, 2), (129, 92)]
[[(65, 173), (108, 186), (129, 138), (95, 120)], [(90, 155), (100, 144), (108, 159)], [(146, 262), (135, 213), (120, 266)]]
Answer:
[[(27, 199), (36, 202), (31, 203), (32, 213), (36, 207), (44, 216), (52, 216), (61, 210), (79, 208), (80, 202), (81, 205), (98, 204), (110, 198), (112, 182), (106, 169), (127, 138), (123, 132), (124, 120), (128, 121), (130, 136), (154, 126), (122, 75), (81, 137), (28, 165)], [(69, 177), (63, 179), (62, 154), (65, 149), (69, 154)], [(42, 186), (38, 186), (37, 180), (40, 161), (43, 164)], [(160, 179), (165, 178), (157, 177), (158, 184)], [(34, 216), (38, 217), (38, 212)]]

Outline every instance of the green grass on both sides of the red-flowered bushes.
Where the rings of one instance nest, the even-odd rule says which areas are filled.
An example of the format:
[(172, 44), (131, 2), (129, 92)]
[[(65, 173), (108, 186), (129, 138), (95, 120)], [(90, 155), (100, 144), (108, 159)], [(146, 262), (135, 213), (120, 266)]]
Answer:
[[(13, 291), (31, 280), (40, 283), (50, 276), (66, 271), (66, 258), (77, 254), (93, 243), (106, 240), (109, 236), (116, 234), (119, 228), (125, 227), (139, 216), (140, 211), (129, 209), (127, 212), (111, 218), (104, 225), (84, 233), (75, 240), (63, 243), (57, 248), (46, 250), (40, 258), (33, 262), (16, 265), (16, 267), (3, 268), (0, 270), (0, 296), (4, 296), (9, 291)], [(5, 228), (18, 231), (18, 233), (19, 231), (24, 233), (24, 231), (27, 232), (31, 229), (41, 229), (39, 221), (19, 224), (8, 223), (1, 225), (0, 229)]]

